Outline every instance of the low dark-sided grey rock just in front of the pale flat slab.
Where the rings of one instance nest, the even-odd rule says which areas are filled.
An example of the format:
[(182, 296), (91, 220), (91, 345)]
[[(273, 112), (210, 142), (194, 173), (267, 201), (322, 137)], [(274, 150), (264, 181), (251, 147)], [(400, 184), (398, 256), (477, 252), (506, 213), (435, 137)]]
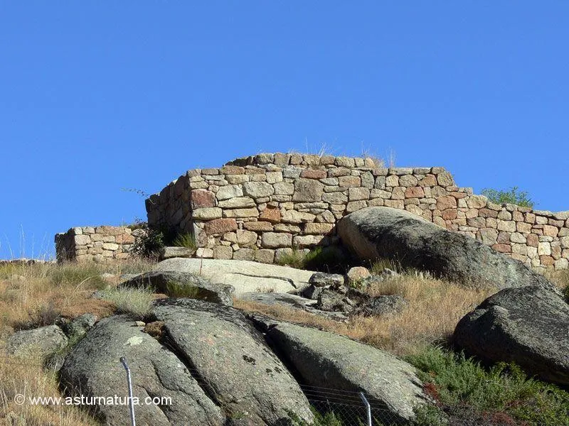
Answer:
[(233, 286), (210, 283), (193, 273), (180, 271), (147, 272), (121, 284), (122, 287), (149, 287), (171, 297), (190, 297), (233, 306)]

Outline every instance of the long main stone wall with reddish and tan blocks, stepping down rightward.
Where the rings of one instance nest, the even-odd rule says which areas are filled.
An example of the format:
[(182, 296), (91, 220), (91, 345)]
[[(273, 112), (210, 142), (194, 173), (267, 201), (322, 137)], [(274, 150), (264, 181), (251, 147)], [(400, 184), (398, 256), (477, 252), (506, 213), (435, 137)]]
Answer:
[(368, 206), (408, 210), (533, 268), (568, 268), (569, 212), (494, 204), (440, 167), (259, 154), (189, 170), (146, 201), (149, 225), (192, 233), (196, 256), (265, 263), (293, 248), (335, 244), (336, 221)]

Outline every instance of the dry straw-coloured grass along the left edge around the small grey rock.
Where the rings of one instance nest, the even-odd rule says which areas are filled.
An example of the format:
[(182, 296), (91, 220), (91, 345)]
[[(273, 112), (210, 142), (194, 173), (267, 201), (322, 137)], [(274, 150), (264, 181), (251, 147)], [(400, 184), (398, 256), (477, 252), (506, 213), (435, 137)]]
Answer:
[[(1, 265), (0, 348), (15, 329), (53, 324), (58, 315), (70, 319), (85, 312), (99, 318), (112, 315), (117, 309), (115, 303), (92, 299), (93, 291), (115, 288), (119, 275), (148, 271), (150, 266), (144, 261), (109, 265)], [(102, 273), (112, 273), (114, 277), (102, 278)], [(77, 407), (14, 402), (18, 393), (26, 397), (60, 396), (55, 373), (46, 371), (42, 365), (42, 359), (7, 356), (0, 349), (0, 422), (11, 426), (99, 425)]]

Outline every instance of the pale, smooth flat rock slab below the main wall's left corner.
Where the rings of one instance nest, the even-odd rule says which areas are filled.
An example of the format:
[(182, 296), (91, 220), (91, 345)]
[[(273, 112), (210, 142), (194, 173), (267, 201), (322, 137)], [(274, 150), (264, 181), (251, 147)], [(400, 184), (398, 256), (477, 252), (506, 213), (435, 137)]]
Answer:
[(189, 272), (213, 284), (233, 285), (235, 295), (260, 291), (290, 293), (308, 286), (314, 271), (252, 261), (199, 258), (171, 258), (154, 266), (153, 271)]

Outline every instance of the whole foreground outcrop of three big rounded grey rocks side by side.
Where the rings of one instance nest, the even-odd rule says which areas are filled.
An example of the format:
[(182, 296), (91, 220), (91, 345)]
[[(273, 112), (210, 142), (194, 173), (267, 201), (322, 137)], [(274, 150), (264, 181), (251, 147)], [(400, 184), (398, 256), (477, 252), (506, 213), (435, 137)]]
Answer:
[(336, 398), (355, 395), (362, 416), (363, 391), (374, 417), (389, 424), (409, 420), (413, 407), (427, 401), (410, 364), (336, 334), (188, 298), (156, 300), (147, 320), (101, 320), (61, 369), (65, 392), (89, 398), (107, 426), (127, 424), (128, 408), (92, 398), (127, 395), (122, 356), (135, 398), (171, 398), (137, 405), (139, 425), (312, 424), (310, 404), (330, 389)]

